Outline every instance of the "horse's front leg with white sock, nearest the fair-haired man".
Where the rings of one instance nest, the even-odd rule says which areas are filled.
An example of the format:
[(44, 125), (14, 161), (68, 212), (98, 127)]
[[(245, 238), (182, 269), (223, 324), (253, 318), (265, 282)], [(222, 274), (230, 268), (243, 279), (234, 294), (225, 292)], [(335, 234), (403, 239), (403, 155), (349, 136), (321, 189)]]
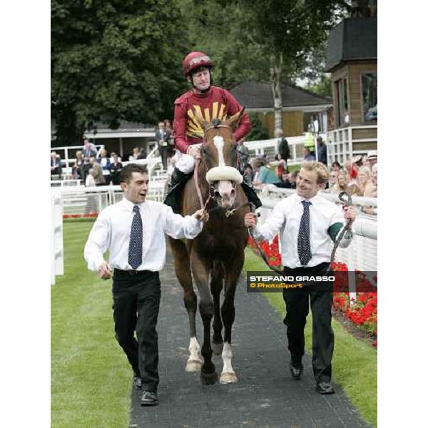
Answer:
[(223, 347), (223, 371), (220, 375), (220, 383), (238, 382), (235, 370), (232, 367), (232, 326), (235, 321), (235, 291), (240, 272), (243, 268), (244, 256), (235, 258), (232, 263), (225, 266), (226, 284), (225, 300), (221, 307), (221, 317), (225, 326), (225, 345)]

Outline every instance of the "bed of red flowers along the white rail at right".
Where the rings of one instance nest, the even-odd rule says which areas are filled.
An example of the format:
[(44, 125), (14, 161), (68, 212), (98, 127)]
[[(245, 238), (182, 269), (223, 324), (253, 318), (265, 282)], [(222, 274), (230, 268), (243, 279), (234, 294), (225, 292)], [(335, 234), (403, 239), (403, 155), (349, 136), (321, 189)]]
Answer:
[[(248, 245), (258, 253), (252, 238), (248, 241)], [(271, 244), (263, 241), (259, 245), (272, 266), (281, 265), (278, 235)], [(335, 262), (332, 264), (332, 270), (346, 272), (348, 268), (345, 263)], [(370, 333), (374, 338), (372, 346), (377, 348), (377, 292), (357, 292), (356, 300), (350, 297), (349, 292), (335, 292), (333, 307), (340, 310), (355, 325)]]

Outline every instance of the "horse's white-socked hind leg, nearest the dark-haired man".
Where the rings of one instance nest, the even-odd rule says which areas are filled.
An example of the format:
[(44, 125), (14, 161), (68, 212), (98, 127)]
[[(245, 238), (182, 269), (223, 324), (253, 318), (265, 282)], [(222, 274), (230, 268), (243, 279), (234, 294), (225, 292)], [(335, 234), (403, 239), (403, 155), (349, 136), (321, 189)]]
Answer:
[(170, 247), (173, 251), (175, 275), (178, 277), (181, 287), (183, 287), (183, 300), (189, 319), (189, 352), (190, 356), (185, 366), (186, 372), (200, 372), (202, 367), (202, 357), (200, 346), (196, 339), (196, 310), (198, 307), (198, 297), (193, 290), (192, 275), (190, 273), (190, 261), (188, 250), (180, 240), (170, 238)]

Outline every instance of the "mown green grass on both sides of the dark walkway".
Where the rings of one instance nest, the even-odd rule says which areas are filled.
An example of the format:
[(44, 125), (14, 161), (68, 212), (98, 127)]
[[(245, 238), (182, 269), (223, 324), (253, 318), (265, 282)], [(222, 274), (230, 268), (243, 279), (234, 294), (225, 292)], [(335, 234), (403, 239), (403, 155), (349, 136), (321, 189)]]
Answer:
[[(89, 272), (83, 260), (93, 220), (64, 222), (64, 276), (51, 287), (51, 427), (126, 428), (131, 407), (132, 371), (114, 338), (111, 281)], [(246, 250), (244, 270), (267, 270)], [(281, 293), (265, 293), (280, 316)], [(312, 319), (308, 317), (308, 325)], [(335, 382), (367, 422), (377, 419), (377, 352), (334, 321)], [(312, 330), (305, 330), (307, 350)]]

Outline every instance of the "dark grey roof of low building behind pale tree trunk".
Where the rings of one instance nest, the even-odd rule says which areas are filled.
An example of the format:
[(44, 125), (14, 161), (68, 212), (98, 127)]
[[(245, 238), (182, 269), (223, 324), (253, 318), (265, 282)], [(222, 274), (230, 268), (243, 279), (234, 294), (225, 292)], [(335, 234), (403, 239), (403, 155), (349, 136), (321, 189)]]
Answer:
[[(244, 81), (229, 89), (230, 93), (247, 109), (273, 108), (270, 83)], [(320, 96), (290, 83), (282, 84), (282, 108), (331, 105), (329, 97)]]

